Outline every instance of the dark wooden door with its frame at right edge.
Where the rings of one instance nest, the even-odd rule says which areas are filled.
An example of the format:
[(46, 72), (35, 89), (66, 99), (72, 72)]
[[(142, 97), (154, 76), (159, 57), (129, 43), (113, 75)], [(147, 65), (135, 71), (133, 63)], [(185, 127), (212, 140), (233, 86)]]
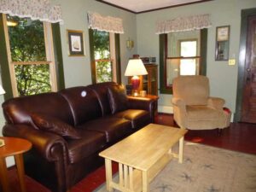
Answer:
[(256, 9), (241, 11), (236, 121), (256, 123)]

